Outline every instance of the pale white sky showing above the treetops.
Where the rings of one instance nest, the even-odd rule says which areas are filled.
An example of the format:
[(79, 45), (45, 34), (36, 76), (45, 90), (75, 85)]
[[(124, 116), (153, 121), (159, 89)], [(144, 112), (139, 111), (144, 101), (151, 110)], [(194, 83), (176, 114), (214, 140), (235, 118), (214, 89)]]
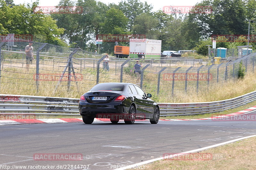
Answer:
[[(35, 0), (13, 0), (14, 4), (27, 4), (35, 2)], [(115, 3), (118, 4), (120, 0), (97, 0), (105, 4)], [(176, 0), (176, 1), (166, 1), (166, 0), (140, 0), (141, 2), (147, 2), (153, 5), (153, 11), (162, 10), (164, 6), (193, 6), (202, 0)], [(39, 0), (39, 6), (56, 6), (59, 4), (59, 0)]]

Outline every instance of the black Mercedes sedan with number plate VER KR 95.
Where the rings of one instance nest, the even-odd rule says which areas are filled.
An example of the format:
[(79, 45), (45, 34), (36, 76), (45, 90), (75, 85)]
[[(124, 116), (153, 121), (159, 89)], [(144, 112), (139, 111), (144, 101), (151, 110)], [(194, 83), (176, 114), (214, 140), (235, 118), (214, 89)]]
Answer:
[(81, 96), (79, 112), (86, 124), (91, 124), (94, 118), (107, 118), (114, 124), (119, 120), (133, 124), (135, 119), (149, 119), (156, 124), (159, 107), (150, 97), (135, 84), (100, 83)]

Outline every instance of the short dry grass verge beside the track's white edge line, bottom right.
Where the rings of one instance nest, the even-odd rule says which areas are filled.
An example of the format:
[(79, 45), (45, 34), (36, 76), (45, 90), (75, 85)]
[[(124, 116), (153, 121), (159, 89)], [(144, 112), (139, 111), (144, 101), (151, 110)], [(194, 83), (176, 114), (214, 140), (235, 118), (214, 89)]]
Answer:
[(212, 160), (161, 160), (149, 164), (146, 170), (255, 170), (256, 137), (208, 149)]

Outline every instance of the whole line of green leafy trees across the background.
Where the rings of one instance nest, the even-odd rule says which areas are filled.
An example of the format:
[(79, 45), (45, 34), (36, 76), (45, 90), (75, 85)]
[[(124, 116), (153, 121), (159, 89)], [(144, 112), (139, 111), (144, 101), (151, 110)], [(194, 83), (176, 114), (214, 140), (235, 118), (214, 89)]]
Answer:
[[(196, 49), (205, 54), (206, 45), (217, 37), (217, 48), (247, 45), (248, 24), (255, 34), (255, 0), (203, 0), (190, 13), (152, 11), (152, 4), (140, 0), (122, 0), (119, 4), (105, 4), (96, 0), (60, 0), (58, 6), (79, 6), (78, 13), (35, 12), (38, 1), (32, 4), (13, 4), (0, 0), (0, 34), (32, 34), (35, 41), (82, 48), (97, 49), (95, 40), (100, 34), (145, 35), (162, 40), (162, 50)], [(193, 12), (210, 6), (211, 12)], [(223, 35), (239, 36), (230, 41)], [(111, 53), (115, 42), (103, 42), (101, 52)], [(129, 42), (118, 42), (129, 45)], [(250, 45), (255, 47), (255, 40)]]

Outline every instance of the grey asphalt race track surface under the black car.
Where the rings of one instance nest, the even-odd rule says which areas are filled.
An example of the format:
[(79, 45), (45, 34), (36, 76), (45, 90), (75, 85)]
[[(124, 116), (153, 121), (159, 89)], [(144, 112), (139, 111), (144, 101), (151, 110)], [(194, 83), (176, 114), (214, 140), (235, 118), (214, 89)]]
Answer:
[[(159, 158), (164, 153), (190, 151), (255, 134), (255, 121), (159, 121), (158, 124), (135, 121), (133, 125), (94, 122), (1, 126), (0, 166), (116, 169), (122, 165)], [(33, 155), (45, 153), (76, 153), (82, 155), (82, 160), (33, 159)]]

